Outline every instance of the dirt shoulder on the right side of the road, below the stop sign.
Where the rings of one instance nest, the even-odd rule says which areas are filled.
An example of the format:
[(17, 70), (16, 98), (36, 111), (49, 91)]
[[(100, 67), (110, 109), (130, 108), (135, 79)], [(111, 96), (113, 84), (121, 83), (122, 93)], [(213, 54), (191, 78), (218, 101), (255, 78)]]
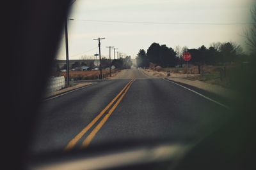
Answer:
[[(198, 89), (205, 90), (207, 92), (211, 92), (213, 94), (216, 94), (221, 97), (225, 97), (228, 99), (234, 99), (236, 97), (236, 92), (234, 92), (231, 89), (227, 89), (225, 87), (221, 87), (220, 85), (213, 85), (210, 83), (205, 83), (203, 81), (199, 80), (188, 80), (187, 74), (179, 74), (179, 73), (171, 73), (171, 76), (167, 76), (166, 73), (163, 73), (161, 71), (153, 71), (151, 69), (141, 69), (143, 73), (148, 74), (148, 76), (152, 78), (167, 78), (172, 81), (176, 81), (178, 83), (184, 83), (187, 85), (191, 85), (193, 87), (196, 87)], [(198, 74), (190, 74), (189, 77), (198, 76)]]

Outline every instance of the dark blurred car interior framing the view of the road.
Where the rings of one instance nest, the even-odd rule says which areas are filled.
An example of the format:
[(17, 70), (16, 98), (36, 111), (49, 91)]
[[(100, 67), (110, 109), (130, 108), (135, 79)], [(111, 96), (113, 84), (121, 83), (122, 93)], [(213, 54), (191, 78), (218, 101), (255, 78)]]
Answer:
[(71, 3), (24, 0), (1, 6), (3, 169), (255, 169), (255, 58), (237, 74), (236, 88), (242, 93), (228, 113), (232, 118), (205, 138), (188, 143), (122, 141), (30, 155), (35, 120)]

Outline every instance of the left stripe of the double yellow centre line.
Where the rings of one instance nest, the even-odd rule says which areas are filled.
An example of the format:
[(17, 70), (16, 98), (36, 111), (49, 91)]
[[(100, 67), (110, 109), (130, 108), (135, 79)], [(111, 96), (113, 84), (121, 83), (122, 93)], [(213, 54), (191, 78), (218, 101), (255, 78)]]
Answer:
[(79, 132), (79, 134), (77, 134), (75, 136), (75, 138), (73, 138), (68, 145), (65, 147), (65, 151), (71, 150), (72, 148), (74, 148), (74, 146), (76, 145), (76, 143), (79, 141), (79, 139), (81, 139), (83, 137), (83, 135), (100, 119), (100, 117), (102, 117), (102, 115), (104, 115), (104, 113), (110, 108), (110, 106), (115, 103), (116, 99), (118, 99), (118, 97), (124, 92), (124, 90), (129, 86), (129, 84), (132, 83), (132, 80), (129, 81), (129, 83), (127, 83), (124, 87), (124, 89), (122, 89), (119, 94), (106, 106), (106, 108), (104, 108), (104, 110), (102, 110), (99, 115), (97, 115), (97, 117), (95, 117), (92, 122), (90, 122), (90, 124), (88, 124), (86, 127), (84, 127), (84, 129)]

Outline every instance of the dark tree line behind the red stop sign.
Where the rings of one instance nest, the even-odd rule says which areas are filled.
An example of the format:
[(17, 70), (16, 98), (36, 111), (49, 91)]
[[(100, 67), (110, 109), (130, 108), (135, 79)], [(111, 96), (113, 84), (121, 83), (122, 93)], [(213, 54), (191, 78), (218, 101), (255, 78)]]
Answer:
[(204, 45), (199, 48), (189, 49), (188, 47), (175, 46), (175, 49), (169, 48), (166, 45), (152, 43), (147, 52), (141, 49), (136, 57), (138, 67), (148, 67), (150, 62), (161, 67), (175, 67), (184, 64), (182, 54), (189, 52), (192, 55), (191, 63), (195, 65), (218, 65), (230, 64), (231, 62), (243, 61), (248, 58), (244, 55), (241, 46), (233, 42), (227, 43), (211, 43), (209, 48)]

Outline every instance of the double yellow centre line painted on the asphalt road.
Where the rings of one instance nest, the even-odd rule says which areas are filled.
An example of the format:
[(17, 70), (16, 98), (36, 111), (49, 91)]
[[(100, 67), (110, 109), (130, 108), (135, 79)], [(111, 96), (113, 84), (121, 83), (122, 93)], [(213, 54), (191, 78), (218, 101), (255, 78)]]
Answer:
[(102, 120), (100, 120), (99, 124), (97, 124), (97, 126), (92, 130), (92, 132), (90, 132), (90, 134), (84, 139), (84, 141), (82, 143), (82, 148), (86, 148), (88, 145), (90, 145), (92, 139), (95, 137), (97, 132), (99, 132), (100, 128), (107, 122), (108, 118), (111, 116), (113, 111), (116, 109), (116, 107), (118, 106), (120, 101), (122, 101), (122, 99), (124, 98), (127, 91), (130, 89), (130, 87), (134, 81), (135, 81), (135, 79), (132, 79), (131, 81), (129, 81), (129, 83), (127, 83), (127, 85), (125, 85), (124, 89), (122, 89), (118, 93), (118, 95), (106, 106), (106, 108), (104, 108), (104, 110), (102, 110), (99, 113), (99, 115), (97, 115), (97, 117), (95, 117), (92, 120), (92, 122), (90, 122), (90, 124), (88, 124), (86, 127), (84, 127), (84, 129), (81, 132), (79, 132), (79, 134), (77, 134), (75, 136), (75, 138), (73, 138), (68, 143), (68, 145), (65, 147), (65, 151), (68, 151), (68, 150), (71, 150), (72, 148), (74, 148), (74, 146), (84, 136), (84, 134), (86, 134), (86, 132), (88, 132), (93, 127), (93, 125), (95, 125), (97, 123), (97, 121), (100, 118), (102, 118), (104, 113), (106, 113), (106, 111), (109, 110), (108, 113), (105, 115), (105, 117), (102, 118)]

